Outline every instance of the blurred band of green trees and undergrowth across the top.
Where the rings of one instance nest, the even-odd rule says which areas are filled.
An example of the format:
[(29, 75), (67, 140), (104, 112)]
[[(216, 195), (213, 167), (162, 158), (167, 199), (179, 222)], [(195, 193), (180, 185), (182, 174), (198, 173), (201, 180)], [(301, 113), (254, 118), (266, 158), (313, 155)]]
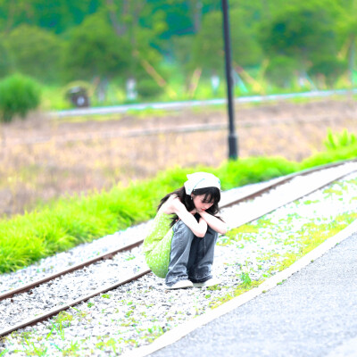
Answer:
[[(237, 95), (355, 84), (355, 2), (229, 5)], [(224, 95), (221, 28), (220, 0), (4, 0), (0, 77), (20, 71), (58, 95), (86, 80), (92, 104)]]

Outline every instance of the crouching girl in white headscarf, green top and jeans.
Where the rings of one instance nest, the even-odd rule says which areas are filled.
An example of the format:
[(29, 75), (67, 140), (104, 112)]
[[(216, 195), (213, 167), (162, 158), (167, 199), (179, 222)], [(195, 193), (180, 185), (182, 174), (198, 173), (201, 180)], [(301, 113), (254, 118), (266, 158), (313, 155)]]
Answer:
[(226, 233), (220, 217), (220, 179), (211, 173), (187, 175), (183, 187), (165, 195), (144, 240), (145, 260), (166, 287), (178, 289), (219, 284), (212, 278), (218, 233)]

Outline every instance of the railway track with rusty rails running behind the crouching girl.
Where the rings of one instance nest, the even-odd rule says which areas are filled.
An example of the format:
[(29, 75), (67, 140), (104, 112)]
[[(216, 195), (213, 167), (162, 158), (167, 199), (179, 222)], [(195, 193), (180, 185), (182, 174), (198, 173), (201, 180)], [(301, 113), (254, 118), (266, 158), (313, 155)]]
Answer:
[[(339, 169), (334, 170), (336, 167), (339, 167)], [(325, 187), (356, 170), (356, 161), (339, 162), (305, 170), (275, 179), (259, 187), (252, 187), (249, 192), (245, 192), (243, 195), (223, 196), (220, 208), (227, 217), (232, 216), (229, 212), (234, 209), (233, 218), (228, 218), (228, 225), (230, 228), (239, 227), (262, 217), (268, 212), (277, 210), (278, 207), (284, 206), (286, 203), (291, 203), (304, 195), (308, 195), (320, 187)], [(319, 177), (311, 183), (309, 179), (311, 175), (319, 175)], [(294, 190), (290, 186), (293, 181), (295, 181)], [(265, 197), (268, 193), (269, 199)], [(242, 205), (241, 203), (245, 204)], [(240, 208), (239, 204), (241, 204)], [(145, 267), (143, 254), (140, 253), (142, 242), (142, 239), (137, 239), (129, 245), (101, 254), (95, 259), (81, 262), (71, 266), (71, 268), (57, 271), (46, 278), (41, 278), (1, 294), (0, 308), (3, 306), (3, 309), (0, 310), (0, 319), (6, 320), (7, 312), (11, 315), (11, 320), (7, 319), (7, 326), (0, 329), (0, 337), (7, 336), (20, 328), (45, 321), (60, 311), (65, 311), (96, 295), (104, 294), (145, 276), (150, 270)], [(129, 255), (131, 253), (128, 252), (131, 252), (132, 255)], [(131, 256), (134, 258), (131, 259)], [(69, 276), (71, 278), (68, 278)], [(95, 278), (102, 281), (100, 286), (91, 284)], [(86, 284), (87, 291), (82, 294), (83, 286)], [(59, 304), (52, 303), (52, 300), (55, 302), (52, 297), (54, 295), (57, 297), (63, 296), (63, 301)], [(20, 315), (21, 306), (25, 302), (27, 305), (31, 305), (32, 310), (28, 312), (28, 318), (22, 320), (18, 318), (18, 315)], [(45, 308), (46, 311), (43, 311)]]

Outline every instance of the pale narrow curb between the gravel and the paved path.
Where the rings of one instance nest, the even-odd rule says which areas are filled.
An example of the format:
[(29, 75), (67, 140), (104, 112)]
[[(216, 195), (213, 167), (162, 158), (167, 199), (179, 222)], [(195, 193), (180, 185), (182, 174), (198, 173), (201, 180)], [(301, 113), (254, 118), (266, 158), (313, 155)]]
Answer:
[(347, 237), (350, 237), (353, 233), (357, 231), (357, 220), (354, 220), (345, 229), (338, 232), (335, 236), (328, 238), (325, 242), (321, 243), (318, 247), (313, 249), (311, 252), (305, 254), (298, 261), (294, 262), (286, 270), (279, 271), (276, 275), (265, 280), (260, 286), (254, 287), (252, 290), (246, 292), (243, 295), (239, 295), (228, 303), (223, 303), (216, 309), (203, 313), (203, 315), (195, 318), (194, 320), (187, 321), (176, 328), (172, 328), (170, 331), (165, 332), (162, 336), (158, 337), (150, 345), (144, 345), (138, 347), (128, 353), (123, 353), (123, 357), (145, 357), (151, 353), (161, 350), (162, 348), (171, 345), (184, 336), (187, 336), (190, 332), (194, 331), (196, 328), (201, 328), (208, 324), (212, 320), (218, 319), (221, 316), (227, 314), (230, 311), (237, 309), (239, 306), (248, 303), (253, 300), (258, 295), (261, 295), (273, 287), (277, 286), (278, 283), (286, 280), (292, 276), (295, 272), (302, 270), (304, 267), (309, 265), (311, 262), (320, 258), (323, 254), (327, 253), (335, 245), (338, 245), (344, 241)]

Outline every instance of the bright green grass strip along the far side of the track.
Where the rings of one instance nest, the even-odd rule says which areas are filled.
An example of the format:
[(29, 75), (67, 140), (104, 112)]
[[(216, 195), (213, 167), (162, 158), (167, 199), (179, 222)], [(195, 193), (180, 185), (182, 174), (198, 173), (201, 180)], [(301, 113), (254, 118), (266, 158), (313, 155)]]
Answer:
[(222, 189), (227, 190), (355, 157), (357, 145), (315, 154), (300, 163), (279, 157), (253, 157), (223, 162), (215, 169), (174, 168), (128, 187), (61, 199), (40, 211), (0, 220), (0, 272), (19, 270), (46, 256), (150, 220), (162, 196), (181, 187), (187, 173), (195, 170), (214, 173), (220, 177)]

